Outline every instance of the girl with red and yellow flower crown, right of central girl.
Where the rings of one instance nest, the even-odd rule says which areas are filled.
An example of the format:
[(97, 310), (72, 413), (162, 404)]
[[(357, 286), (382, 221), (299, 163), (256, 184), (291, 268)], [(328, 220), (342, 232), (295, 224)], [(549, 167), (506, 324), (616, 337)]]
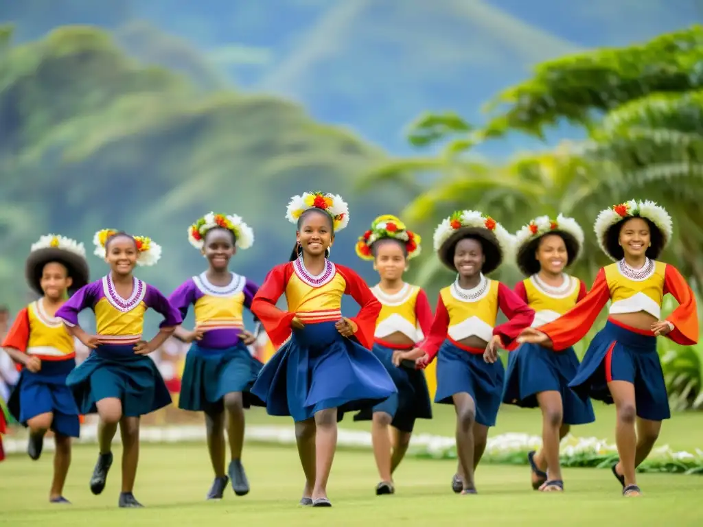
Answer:
[(395, 216), (376, 218), (356, 243), (356, 254), (373, 261), (380, 276), (380, 282), (371, 288), (381, 303), (372, 351), (386, 367), (398, 393), (359, 412), (354, 420), (372, 421), (373, 454), (381, 478), (376, 494), (393, 494), (392, 474), (408, 450), (415, 419), (432, 419), (425, 374), (415, 369), (415, 359), (423, 352), (413, 350), (430, 331), (432, 309), (423, 289), (403, 281), (408, 261), (420, 254), (420, 236), (407, 230)]

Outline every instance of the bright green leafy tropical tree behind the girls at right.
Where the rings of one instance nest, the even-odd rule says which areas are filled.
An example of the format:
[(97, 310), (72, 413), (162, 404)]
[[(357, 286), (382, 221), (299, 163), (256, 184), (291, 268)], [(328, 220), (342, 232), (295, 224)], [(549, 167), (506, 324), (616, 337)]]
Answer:
[[(667, 259), (703, 285), (703, 28), (665, 34), (647, 44), (596, 50), (538, 65), (534, 77), (498, 94), (489, 122), (472, 129), (452, 114), (423, 115), (414, 145), (444, 141), (439, 154), (393, 160), (362, 185), (394, 181), (417, 197), (402, 212), (430, 231), (451, 209), (472, 207), (517, 229), (531, 216), (563, 212), (590, 230), (607, 204), (637, 197), (669, 209), (676, 235)], [(493, 165), (471, 149), (520, 131), (544, 138), (550, 126), (581, 126), (586, 141), (520, 155)], [(428, 175), (429, 174), (429, 175)], [(593, 278), (604, 263), (588, 237), (577, 273)], [(418, 280), (434, 282), (436, 259), (425, 252)]]

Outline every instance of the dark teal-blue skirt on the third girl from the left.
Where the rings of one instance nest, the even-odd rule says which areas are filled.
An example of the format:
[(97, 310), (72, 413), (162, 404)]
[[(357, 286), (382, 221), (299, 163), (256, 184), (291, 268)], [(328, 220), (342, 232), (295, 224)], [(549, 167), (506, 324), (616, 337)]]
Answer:
[(242, 342), (231, 348), (203, 348), (193, 343), (186, 355), (179, 408), (195, 412), (221, 412), (227, 393), (241, 392), (245, 408), (264, 406), (250, 389), (264, 365)]

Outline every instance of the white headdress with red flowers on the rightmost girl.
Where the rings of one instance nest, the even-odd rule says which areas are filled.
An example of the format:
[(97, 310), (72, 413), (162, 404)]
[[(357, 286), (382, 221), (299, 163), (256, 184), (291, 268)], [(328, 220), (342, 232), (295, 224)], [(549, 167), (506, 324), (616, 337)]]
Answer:
[[(629, 200), (628, 202), (613, 205), (608, 209), (602, 210), (593, 225), (595, 235), (598, 237), (598, 245), (610, 259), (617, 261), (621, 259), (622, 256), (619, 254), (619, 252), (621, 252), (620, 250), (616, 251), (614, 247), (607, 246), (608, 233), (611, 228), (629, 218), (647, 219), (659, 229), (659, 232), (662, 234), (662, 247), (659, 247), (659, 249), (664, 249), (671, 240), (673, 224), (671, 222), (671, 216), (669, 216), (669, 213), (666, 212), (663, 207), (659, 207), (659, 205), (653, 201)], [(657, 258), (657, 256), (658, 254), (650, 257)]]

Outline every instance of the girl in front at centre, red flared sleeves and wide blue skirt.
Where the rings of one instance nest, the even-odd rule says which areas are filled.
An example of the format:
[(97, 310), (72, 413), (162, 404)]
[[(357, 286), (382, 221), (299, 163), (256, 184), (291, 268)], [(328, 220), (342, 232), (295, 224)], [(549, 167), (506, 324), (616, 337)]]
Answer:
[[(351, 269), (326, 256), (349, 211), (333, 194), (304, 193), (288, 204), (297, 225), (292, 261), (274, 267), (252, 301), (276, 354), (264, 365), (252, 393), (269, 415), (295, 421), (298, 454), (305, 473), (301, 505), (331, 507), (327, 481), (337, 448), (337, 421), (396, 393), (393, 380), (373, 353), (381, 304)], [(285, 294), (286, 311), (276, 307)], [(361, 306), (342, 316), (342, 296)]]

